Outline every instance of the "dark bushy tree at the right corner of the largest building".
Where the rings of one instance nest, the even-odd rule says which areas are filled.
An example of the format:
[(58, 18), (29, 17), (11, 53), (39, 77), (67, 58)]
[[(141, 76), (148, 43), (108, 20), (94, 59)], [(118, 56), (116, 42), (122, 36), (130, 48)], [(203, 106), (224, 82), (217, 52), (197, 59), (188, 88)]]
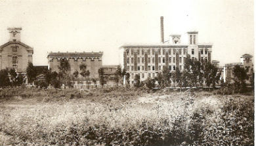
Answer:
[(211, 62), (205, 62), (203, 69), (203, 77), (207, 86), (215, 88), (215, 84), (219, 82), (220, 74), (217, 74), (218, 68), (211, 64)]

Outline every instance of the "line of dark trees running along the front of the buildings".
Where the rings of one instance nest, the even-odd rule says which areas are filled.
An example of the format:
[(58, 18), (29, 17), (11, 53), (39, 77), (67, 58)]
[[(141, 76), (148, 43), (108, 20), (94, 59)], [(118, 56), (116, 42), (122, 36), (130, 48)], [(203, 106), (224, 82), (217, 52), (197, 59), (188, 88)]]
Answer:
[[(40, 86), (41, 88), (47, 88), (50, 84), (54, 88), (60, 88), (62, 84), (65, 86), (72, 87), (74, 81), (79, 82), (79, 75), (84, 79), (89, 79), (90, 71), (87, 69), (87, 65), (80, 64), (79, 71), (74, 71), (70, 73), (70, 64), (68, 60), (60, 60), (60, 65), (58, 66), (59, 71), (51, 71), (48, 69), (39, 70), (30, 62), (26, 69), (28, 83), (32, 84), (34, 82), (35, 86)], [(37, 75), (43, 74), (44, 80), (38, 81)], [(190, 57), (184, 60), (184, 69), (182, 71), (179, 67), (176, 71), (170, 72), (167, 67), (163, 67), (163, 70), (158, 73), (154, 78), (148, 78), (146, 81), (140, 81), (140, 75), (135, 75), (135, 80), (133, 85), (135, 87), (147, 86), (148, 88), (167, 88), (169, 86), (174, 86), (175, 88), (182, 89), (183, 87), (202, 87), (205, 84), (208, 87), (215, 88), (216, 84), (221, 86), (229, 86), (230, 88), (235, 88), (236, 90), (245, 90), (247, 84), (246, 81), (250, 81), (250, 85), (254, 86), (254, 71), (251, 70), (249, 73), (248, 68), (240, 67), (236, 65), (232, 72), (233, 81), (232, 84), (224, 84), (223, 79), (220, 80), (221, 70), (211, 62), (198, 60), (192, 60)], [(114, 73), (114, 80), (117, 84), (122, 84), (125, 80), (125, 84), (129, 86), (130, 74), (127, 73), (125, 69), (121, 69), (120, 66), (117, 67)], [(100, 86), (106, 84), (106, 75), (104, 75), (104, 69), (98, 69), (98, 78), (90, 79), (96, 86), (96, 81), (100, 82)], [(20, 86), (23, 84), (24, 76), (17, 74), (14, 69), (2, 69), (0, 71), (0, 87), (3, 86)]]

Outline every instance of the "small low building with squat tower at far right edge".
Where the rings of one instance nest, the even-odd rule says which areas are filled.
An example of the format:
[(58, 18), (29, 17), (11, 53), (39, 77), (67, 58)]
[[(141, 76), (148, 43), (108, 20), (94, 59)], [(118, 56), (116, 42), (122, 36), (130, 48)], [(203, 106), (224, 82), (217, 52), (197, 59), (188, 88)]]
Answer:
[(240, 62), (232, 63), (232, 64), (225, 64), (224, 65), (224, 82), (226, 83), (233, 83), (234, 80), (234, 75), (233, 75), (233, 70), (236, 65), (239, 65), (240, 67), (244, 67), (245, 69), (248, 69), (248, 73), (251, 74), (253, 73), (253, 56), (249, 54), (244, 54), (240, 57)]

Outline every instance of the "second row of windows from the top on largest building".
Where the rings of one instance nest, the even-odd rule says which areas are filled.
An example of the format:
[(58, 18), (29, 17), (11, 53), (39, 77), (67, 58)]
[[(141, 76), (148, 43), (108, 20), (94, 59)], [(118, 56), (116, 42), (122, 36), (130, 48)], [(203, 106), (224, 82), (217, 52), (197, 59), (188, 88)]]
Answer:
[[(152, 63), (154, 64), (155, 63), (155, 58), (148, 58), (148, 64), (151, 63), (151, 60), (152, 60)], [(161, 64), (161, 60), (162, 60), (162, 63), (164, 64), (165, 63), (165, 57), (163, 57), (161, 59), (161, 57), (158, 58), (158, 63)], [(185, 57), (184, 59), (185, 60)], [(134, 64), (135, 62), (135, 59), (134, 58), (131, 58), (131, 64)], [(171, 57), (168, 58), (168, 62), (171, 63)], [(173, 57), (173, 63), (176, 62), (176, 58)], [(140, 58), (137, 58), (137, 63), (140, 64)], [(144, 64), (144, 58), (141, 58), (141, 63)], [(182, 64), (182, 57), (179, 57), (179, 63)], [(130, 58), (127, 58), (127, 64), (130, 64)]]

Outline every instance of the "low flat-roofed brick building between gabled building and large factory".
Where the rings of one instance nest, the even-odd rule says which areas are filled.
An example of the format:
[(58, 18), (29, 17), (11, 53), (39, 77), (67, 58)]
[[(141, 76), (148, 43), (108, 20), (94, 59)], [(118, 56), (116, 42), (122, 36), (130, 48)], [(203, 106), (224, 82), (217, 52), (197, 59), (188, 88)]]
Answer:
[(79, 66), (84, 64), (90, 71), (88, 79), (98, 78), (98, 69), (102, 67), (102, 55), (103, 52), (50, 52), (47, 56), (48, 66), (51, 71), (58, 72), (60, 60), (68, 60), (71, 75), (78, 71), (78, 78), (82, 79)]

